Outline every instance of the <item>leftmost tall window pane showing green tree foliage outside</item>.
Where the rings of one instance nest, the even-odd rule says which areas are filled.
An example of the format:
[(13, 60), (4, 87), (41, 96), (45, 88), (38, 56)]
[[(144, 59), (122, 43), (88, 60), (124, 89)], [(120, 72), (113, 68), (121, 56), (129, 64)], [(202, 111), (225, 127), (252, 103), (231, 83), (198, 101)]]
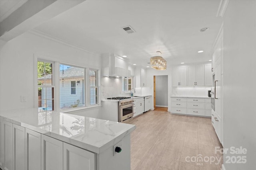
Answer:
[(54, 110), (53, 63), (37, 62), (38, 112)]

